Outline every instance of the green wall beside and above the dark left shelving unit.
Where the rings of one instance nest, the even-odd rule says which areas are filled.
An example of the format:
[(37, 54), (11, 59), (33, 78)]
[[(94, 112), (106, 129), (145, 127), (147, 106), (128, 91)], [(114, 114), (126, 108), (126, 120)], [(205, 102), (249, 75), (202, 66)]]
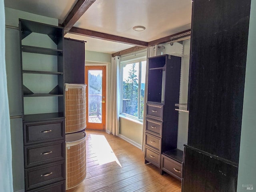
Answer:
[[(58, 25), (58, 19), (5, 8), (6, 25), (18, 27), (19, 18)], [(6, 74), (10, 116), (19, 116), (22, 114), (19, 31), (16, 29), (6, 28), (5, 33)], [(29, 41), (31, 41), (31, 39), (28, 40), (27, 43), (29, 43)], [(33, 61), (31, 60), (30, 64), (32, 63)], [(10, 119), (10, 128), (12, 142), (13, 188), (14, 191), (17, 191), (24, 189), (22, 119)]]

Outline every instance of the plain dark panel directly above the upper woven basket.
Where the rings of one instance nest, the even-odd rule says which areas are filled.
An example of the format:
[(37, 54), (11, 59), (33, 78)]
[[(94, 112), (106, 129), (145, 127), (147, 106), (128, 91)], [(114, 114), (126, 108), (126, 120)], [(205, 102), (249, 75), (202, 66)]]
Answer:
[(84, 84), (85, 45), (83, 41), (64, 38), (65, 83)]

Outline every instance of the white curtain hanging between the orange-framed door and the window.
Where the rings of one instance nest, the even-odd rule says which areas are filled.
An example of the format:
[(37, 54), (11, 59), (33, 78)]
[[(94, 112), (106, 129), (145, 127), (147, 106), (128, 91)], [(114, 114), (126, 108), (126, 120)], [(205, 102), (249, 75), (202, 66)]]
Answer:
[(110, 82), (110, 133), (119, 134), (119, 110), (120, 110), (120, 60), (112, 58), (111, 82)]

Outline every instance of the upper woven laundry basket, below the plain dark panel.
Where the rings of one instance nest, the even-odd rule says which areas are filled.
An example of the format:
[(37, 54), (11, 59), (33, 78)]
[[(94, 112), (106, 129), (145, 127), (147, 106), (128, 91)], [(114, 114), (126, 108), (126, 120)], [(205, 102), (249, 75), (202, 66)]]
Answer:
[(86, 128), (86, 84), (65, 84), (66, 133)]

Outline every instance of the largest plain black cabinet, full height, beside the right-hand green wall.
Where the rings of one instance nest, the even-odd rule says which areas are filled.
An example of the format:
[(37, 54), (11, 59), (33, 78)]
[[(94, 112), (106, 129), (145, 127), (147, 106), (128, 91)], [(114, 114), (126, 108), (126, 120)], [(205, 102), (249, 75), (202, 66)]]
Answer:
[(234, 192), (250, 0), (194, 0), (182, 192)]

